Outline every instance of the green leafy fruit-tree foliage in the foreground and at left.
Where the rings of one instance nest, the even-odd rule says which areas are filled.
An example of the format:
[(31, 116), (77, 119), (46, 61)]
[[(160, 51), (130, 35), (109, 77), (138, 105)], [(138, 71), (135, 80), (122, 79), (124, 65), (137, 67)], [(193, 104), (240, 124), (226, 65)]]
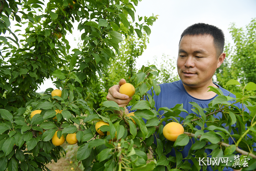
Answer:
[[(198, 159), (206, 157), (206, 148), (213, 149), (211, 157), (229, 157), (233, 161), (230, 166), (234, 164), (234, 154), (246, 155), (250, 160), (244, 170), (256, 169), (253, 148), (256, 105), (246, 101), (255, 101), (255, 96), (247, 95), (248, 91), (256, 89), (255, 83), (240, 85), (235, 80), (227, 83), (227, 86), (241, 87), (236, 100), (243, 103), (250, 114), (236, 108), (234, 99), (211, 87), (219, 96), (209, 108), (202, 109), (191, 103), (195, 114), (181, 118), (179, 114), (186, 111), (182, 104), (177, 104), (171, 109), (160, 108), (164, 113), (159, 116), (152, 96), (160, 93), (158, 82), (153, 79), (160, 71), (155, 66), (143, 66), (130, 75), (130, 82), (136, 89), (130, 103), (131, 110), (137, 110), (130, 116), (135, 124), (125, 115), (114, 114), (114, 110), (125, 109), (113, 101), (104, 101), (100, 108), (93, 107), (92, 101), (97, 96), (94, 85), (109, 67), (110, 60), (120, 54), (119, 43), (124, 37), (126, 40), (133, 35), (141, 38), (144, 31), (150, 34), (148, 26), (156, 20), (156, 16), (138, 17), (140, 24), (132, 25), (137, 0), (77, 0), (75, 3), (53, 0), (45, 7), (40, 0), (0, 2), (0, 171), (48, 170), (46, 163), (52, 159), (57, 162), (66, 153), (61, 146), (52, 143), (57, 130), (57, 137), (65, 139), (68, 134), (76, 133), (79, 146), (76, 158), (82, 161), (85, 171), (205, 170), (204, 166), (199, 166)], [(11, 30), (13, 22), (26, 29)], [(72, 49), (71, 54), (65, 35), (72, 32), (74, 22), (79, 23), (78, 29), (83, 33), (83, 47)], [(62, 37), (57, 38), (55, 33), (61, 33)], [(134, 56), (142, 50), (133, 51)], [(53, 88), (42, 95), (35, 92), (38, 85), (52, 77), (57, 79), (56, 87), (62, 90), (61, 97), (51, 96)], [(152, 91), (152, 96), (147, 94), (148, 90)], [(34, 110), (42, 112), (31, 118)], [(55, 110), (62, 112), (56, 114)], [(223, 117), (214, 118), (217, 112)], [(104, 132), (101, 137), (95, 128), (99, 120), (109, 124), (100, 127)], [(162, 134), (165, 123), (173, 121), (182, 121), (185, 130), (175, 142), (166, 140)], [(200, 130), (195, 128), (197, 125)], [(236, 143), (227, 144), (229, 137)], [(189, 155), (183, 158), (179, 150), (190, 139), (195, 139), (195, 143)], [(176, 156), (167, 158), (172, 148)], [(153, 155), (151, 160), (150, 155)], [(194, 162), (193, 166), (188, 159)], [(223, 166), (224, 163), (213, 167), (222, 170)]]

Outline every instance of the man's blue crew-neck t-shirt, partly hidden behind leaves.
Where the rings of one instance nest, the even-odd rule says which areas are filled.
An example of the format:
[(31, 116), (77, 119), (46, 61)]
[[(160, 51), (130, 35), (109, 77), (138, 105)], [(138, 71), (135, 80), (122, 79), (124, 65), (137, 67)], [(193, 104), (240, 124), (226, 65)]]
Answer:
[[(214, 83), (215, 84), (215, 83)], [(215, 97), (211, 98), (211, 99), (197, 99), (194, 98), (193, 96), (189, 95), (188, 92), (185, 90), (182, 81), (175, 81), (172, 83), (164, 83), (164, 84), (159, 84), (160, 88), (161, 88), (161, 92), (158, 96), (154, 96), (153, 99), (155, 100), (155, 108), (156, 111), (158, 111), (159, 108), (162, 107), (167, 107), (167, 108), (173, 108), (176, 104), (183, 104), (183, 109), (185, 109), (186, 111), (188, 111), (188, 113), (194, 113), (191, 108), (192, 108), (192, 104), (190, 104), (189, 102), (196, 102), (201, 108), (208, 108), (208, 104), (218, 95), (216, 95)], [(217, 84), (215, 84), (217, 85)], [(235, 95), (231, 94), (229, 91), (225, 90), (224, 88), (222, 88), (221, 86), (217, 85), (219, 89), (222, 90), (224, 96), (230, 96), (233, 98), (236, 98)], [(152, 94), (151, 90), (147, 92), (148, 94)], [(154, 92), (155, 94), (155, 92)], [(238, 106), (239, 108), (242, 108), (242, 104), (240, 103), (236, 103), (236, 106)], [(128, 110), (131, 109), (131, 106), (127, 107)], [(129, 112), (134, 112), (134, 111), (129, 111)], [(159, 114), (162, 115), (164, 111), (159, 111)], [(186, 112), (181, 112), (181, 114), (179, 115), (180, 117), (185, 118), (188, 114)], [(197, 114), (196, 114), (197, 115)], [(217, 113), (216, 115), (214, 115), (214, 117), (217, 118), (221, 118), (222, 114), (221, 113)], [(163, 117), (162, 117), (163, 118)], [(179, 118), (178, 118), (179, 119)], [(163, 123), (165, 125), (165, 123)], [(225, 125), (225, 124), (224, 124)], [(199, 126), (196, 126), (197, 129), (201, 129)], [(228, 127), (225, 127), (225, 129), (228, 129)], [(233, 131), (231, 132), (231, 134), (233, 134)], [(194, 139), (193, 143), (195, 143)], [(156, 143), (154, 141), (154, 143)], [(231, 138), (229, 138), (229, 144), (233, 144), (233, 141)], [(192, 143), (189, 142), (183, 149), (183, 151), (180, 151), (183, 155), (183, 158), (185, 158), (186, 156), (188, 156), (188, 152), (189, 149), (191, 148)], [(207, 154), (210, 154), (212, 152), (212, 149), (205, 149), (205, 152)], [(168, 156), (175, 156), (175, 151), (174, 149), (172, 149), (172, 151), (166, 155)], [(193, 162), (190, 161), (191, 164), (193, 164)], [(207, 170), (212, 171), (211, 166), (208, 166)], [(225, 171), (232, 171), (232, 168), (225, 168)]]

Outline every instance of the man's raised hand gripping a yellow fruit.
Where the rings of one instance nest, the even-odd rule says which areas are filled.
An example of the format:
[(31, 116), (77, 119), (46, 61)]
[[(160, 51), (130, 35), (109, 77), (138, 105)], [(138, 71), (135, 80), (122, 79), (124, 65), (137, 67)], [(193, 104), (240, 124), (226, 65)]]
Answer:
[(114, 101), (118, 104), (120, 107), (125, 107), (127, 104), (131, 101), (132, 97), (129, 98), (129, 96), (125, 94), (119, 93), (119, 88), (121, 85), (125, 84), (125, 79), (121, 79), (119, 81), (119, 85), (114, 85), (109, 88), (108, 95), (106, 96), (106, 99), (108, 101)]

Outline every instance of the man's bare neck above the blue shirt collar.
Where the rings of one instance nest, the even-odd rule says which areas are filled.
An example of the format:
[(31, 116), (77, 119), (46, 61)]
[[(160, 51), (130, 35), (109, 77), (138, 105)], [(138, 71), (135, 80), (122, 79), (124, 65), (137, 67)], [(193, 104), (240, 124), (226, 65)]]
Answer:
[(209, 86), (213, 86), (213, 87), (217, 87), (215, 84), (213, 84), (213, 82), (211, 82), (210, 84), (206, 84), (204, 86), (201, 87), (189, 87), (185, 84), (183, 84), (185, 90), (187, 91), (187, 93), (190, 96), (193, 96), (194, 98), (197, 99), (211, 99), (214, 96), (216, 96), (216, 93), (213, 91), (208, 91), (210, 88), (208, 88)]

